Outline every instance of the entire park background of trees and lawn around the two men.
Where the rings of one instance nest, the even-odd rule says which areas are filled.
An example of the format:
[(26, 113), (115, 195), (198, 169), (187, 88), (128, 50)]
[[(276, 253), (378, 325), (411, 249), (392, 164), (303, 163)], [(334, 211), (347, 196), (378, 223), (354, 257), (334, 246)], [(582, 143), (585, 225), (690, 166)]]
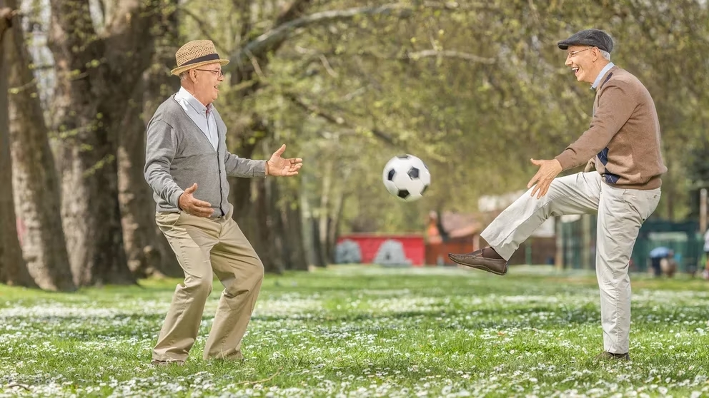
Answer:
[[(709, 396), (707, 21), (704, 0), (0, 0), (0, 396)], [(669, 170), (630, 264), (631, 362), (593, 359), (594, 215), (550, 219), (504, 277), (446, 256), (587, 128), (556, 42), (590, 27), (652, 94)], [(215, 280), (194, 354), (154, 367), (183, 273), (145, 126), (194, 39), (231, 61), (229, 150), (304, 167), (230, 180), (267, 271), (245, 361), (201, 359)], [(382, 183), (402, 153), (431, 174), (414, 202)]]

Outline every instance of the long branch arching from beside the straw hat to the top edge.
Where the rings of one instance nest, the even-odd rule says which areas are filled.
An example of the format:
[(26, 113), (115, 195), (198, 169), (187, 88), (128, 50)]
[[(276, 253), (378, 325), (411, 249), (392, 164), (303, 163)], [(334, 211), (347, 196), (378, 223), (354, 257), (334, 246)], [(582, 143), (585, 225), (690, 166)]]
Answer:
[[(302, 1), (302, 3), (307, 4), (307, 1), (305, 0), (295, 1)], [(484, 5), (469, 4), (467, 8), (470, 8), (471, 6), (475, 7)], [(378, 7), (356, 7), (352, 9), (317, 12), (315, 14), (302, 16), (290, 21), (284, 21), (284, 23), (279, 24), (274, 27), (274, 29), (271, 29), (253, 39), (246, 46), (243, 46), (242, 49), (232, 53), (232, 55), (229, 56), (229, 60), (231, 62), (227, 65), (227, 69), (233, 70), (233, 68), (237, 68), (237, 66), (241, 65), (247, 58), (249, 58), (248, 54), (252, 54), (252, 56), (255, 56), (256, 58), (262, 58), (266, 53), (277, 50), (283, 42), (288, 39), (289, 35), (292, 34), (293, 31), (304, 26), (353, 19), (360, 15), (396, 15), (405, 18), (410, 16), (413, 11), (420, 9), (421, 7), (448, 10), (462, 9), (462, 7), (457, 3), (437, 3), (434, 1), (426, 1), (422, 4), (422, 6), (411, 6), (408, 4), (385, 4), (384, 6)]]

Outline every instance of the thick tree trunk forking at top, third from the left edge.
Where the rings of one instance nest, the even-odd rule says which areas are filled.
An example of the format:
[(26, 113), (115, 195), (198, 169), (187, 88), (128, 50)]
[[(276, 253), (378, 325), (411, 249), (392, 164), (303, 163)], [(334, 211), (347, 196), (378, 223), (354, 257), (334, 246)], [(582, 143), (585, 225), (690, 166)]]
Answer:
[(77, 285), (135, 282), (118, 195), (115, 135), (123, 132), (115, 125), (124, 121), (152, 60), (158, 16), (170, 6), (165, 0), (118, 1), (105, 36), (98, 36), (89, 0), (51, 0), (61, 213)]

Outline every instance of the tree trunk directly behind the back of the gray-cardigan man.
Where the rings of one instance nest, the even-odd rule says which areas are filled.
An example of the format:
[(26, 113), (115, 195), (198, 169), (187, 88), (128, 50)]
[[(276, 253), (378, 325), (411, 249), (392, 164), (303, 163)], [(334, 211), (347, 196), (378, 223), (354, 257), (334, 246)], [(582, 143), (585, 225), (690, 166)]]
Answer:
[[(176, 9), (177, 10), (177, 9)], [(179, 79), (170, 76), (177, 52), (177, 11), (163, 14), (159, 22), (164, 32), (156, 47), (152, 66), (134, 89), (131, 106), (116, 136), (121, 223), (128, 267), (135, 277), (166, 275), (182, 277), (167, 239), (154, 223), (155, 202), (145, 182), (145, 128), (162, 101), (179, 89)]]

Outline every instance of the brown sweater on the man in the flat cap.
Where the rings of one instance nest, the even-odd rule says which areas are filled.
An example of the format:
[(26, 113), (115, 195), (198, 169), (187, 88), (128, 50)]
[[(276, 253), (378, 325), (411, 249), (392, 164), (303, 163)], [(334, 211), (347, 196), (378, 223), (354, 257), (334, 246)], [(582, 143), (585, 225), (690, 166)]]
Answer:
[(653, 98), (638, 78), (618, 66), (600, 81), (590, 127), (556, 159), (567, 170), (593, 158), (603, 181), (618, 188), (659, 188), (667, 167)]

